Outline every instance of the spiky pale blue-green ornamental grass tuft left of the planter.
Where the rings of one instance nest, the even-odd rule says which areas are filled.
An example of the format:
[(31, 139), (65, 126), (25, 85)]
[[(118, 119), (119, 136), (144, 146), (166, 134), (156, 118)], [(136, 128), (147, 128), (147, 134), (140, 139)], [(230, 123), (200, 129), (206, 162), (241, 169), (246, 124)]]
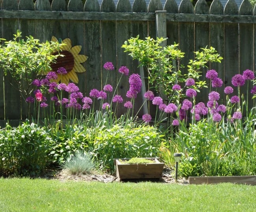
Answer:
[(83, 174), (93, 171), (95, 164), (89, 153), (78, 151), (61, 164), (61, 167), (71, 174)]

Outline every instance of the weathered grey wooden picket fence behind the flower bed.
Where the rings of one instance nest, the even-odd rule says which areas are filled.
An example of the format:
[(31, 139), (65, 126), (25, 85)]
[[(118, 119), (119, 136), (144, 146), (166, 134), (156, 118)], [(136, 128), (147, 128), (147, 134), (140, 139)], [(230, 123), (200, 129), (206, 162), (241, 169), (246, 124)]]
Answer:
[[(131, 73), (139, 73), (137, 62), (121, 48), (124, 41), (139, 35), (145, 37), (167, 37), (166, 44), (179, 43), (187, 65), (194, 58), (194, 51), (213, 46), (224, 60), (220, 64), (209, 64), (215, 69), (224, 85), (231, 85), (231, 77), (238, 72), (255, 70), (255, 23), (254, 10), (248, 0), (237, 7), (234, 0), (228, 0), (223, 8), (219, 0), (209, 7), (205, 0), (198, 0), (195, 7), (190, 0), (182, 0), (178, 6), (175, 0), (167, 0), (164, 7), (160, 0), (151, 0), (147, 6), (144, 0), (2, 0), (0, 10), (0, 37), (13, 39), (17, 29), (23, 36), (32, 35), (40, 41), (56, 38), (70, 38), (72, 46), (82, 45), (80, 54), (88, 56), (83, 64), (85, 73), (78, 73), (80, 91), (89, 95), (92, 88), (102, 89), (106, 80), (103, 64), (113, 62), (115, 72), (111, 72), (109, 84), (117, 84), (117, 70), (125, 65)], [(203, 70), (204, 74), (206, 69)], [(0, 120), (26, 118), (26, 103), (19, 103), (19, 93), (0, 74)], [(4, 85), (4, 87), (3, 87)], [(126, 99), (129, 89), (128, 78), (122, 79), (118, 92)], [(224, 100), (224, 86), (219, 89)], [(5, 97), (5, 100), (4, 100)], [(207, 91), (202, 92), (198, 101), (207, 101)], [(137, 97), (143, 102), (143, 94)], [(25, 111), (20, 114), (20, 109)], [(154, 112), (152, 110), (151, 112)], [(143, 113), (140, 112), (139, 115)]]

